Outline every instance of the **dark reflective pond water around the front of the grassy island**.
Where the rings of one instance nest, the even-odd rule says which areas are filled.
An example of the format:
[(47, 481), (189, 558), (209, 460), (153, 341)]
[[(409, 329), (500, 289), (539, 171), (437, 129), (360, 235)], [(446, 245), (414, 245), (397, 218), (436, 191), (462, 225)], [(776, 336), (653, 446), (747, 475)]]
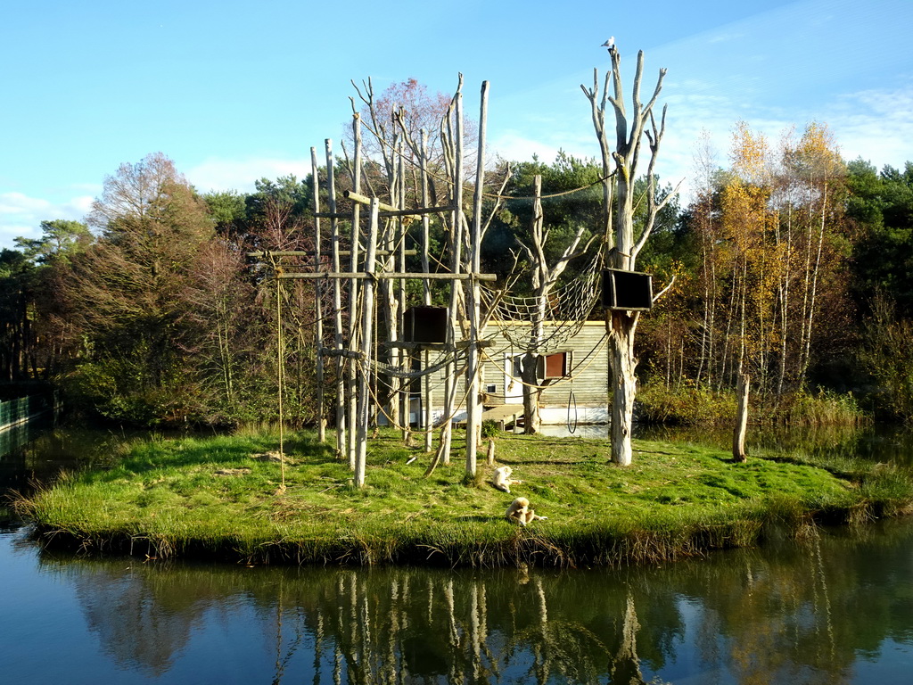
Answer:
[[(0, 477), (27, 487), (80, 435), (89, 460), (117, 438), (41, 433), (0, 458)], [(8, 512), (0, 521), (5, 682), (880, 683), (913, 672), (908, 520), (662, 567), (563, 571), (84, 559), (38, 550)]]

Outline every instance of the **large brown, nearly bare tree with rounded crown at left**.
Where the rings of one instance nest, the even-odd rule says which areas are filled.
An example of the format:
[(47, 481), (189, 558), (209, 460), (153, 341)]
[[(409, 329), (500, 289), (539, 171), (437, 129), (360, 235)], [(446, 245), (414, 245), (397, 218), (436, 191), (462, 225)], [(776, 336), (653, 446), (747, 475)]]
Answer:
[[(61, 297), (89, 349), (79, 374), (104, 374), (107, 416), (183, 422), (196, 406), (187, 348), (199, 334), (187, 292), (213, 236), (205, 204), (161, 153), (105, 179), (89, 223), (101, 236), (74, 259)], [(88, 377), (88, 376), (87, 376)]]

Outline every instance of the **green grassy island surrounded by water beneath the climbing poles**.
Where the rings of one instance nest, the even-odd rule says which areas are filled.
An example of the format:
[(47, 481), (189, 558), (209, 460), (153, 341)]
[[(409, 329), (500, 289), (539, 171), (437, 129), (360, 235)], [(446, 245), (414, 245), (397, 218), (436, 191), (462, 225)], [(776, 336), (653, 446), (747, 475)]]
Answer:
[[(913, 511), (908, 474), (870, 462), (737, 464), (718, 449), (635, 440), (634, 464), (620, 468), (604, 440), (503, 435), (496, 444), (498, 466), (523, 481), (512, 494), (491, 486), (481, 454), (475, 481), (458, 457), (425, 478), (430, 456), (394, 433), (369, 442), (367, 487), (357, 490), (331, 447), (303, 432), (286, 439), (284, 463), (275, 435), (125, 444), (16, 506), (45, 543), (89, 553), (475, 566), (662, 562), (774, 530), (801, 536), (816, 522)], [(520, 496), (548, 520), (507, 522)]]

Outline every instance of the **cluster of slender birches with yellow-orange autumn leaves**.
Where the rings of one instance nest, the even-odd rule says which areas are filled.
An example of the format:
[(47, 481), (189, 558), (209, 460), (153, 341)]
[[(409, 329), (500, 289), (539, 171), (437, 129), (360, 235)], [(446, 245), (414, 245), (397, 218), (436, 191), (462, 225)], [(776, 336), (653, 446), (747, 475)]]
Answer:
[(692, 297), (702, 310), (692, 314), (692, 373), (715, 387), (750, 373), (781, 395), (806, 384), (816, 347), (845, 327), (844, 164), (816, 123), (776, 152), (739, 123), (729, 160), (706, 174), (691, 207), (700, 251)]

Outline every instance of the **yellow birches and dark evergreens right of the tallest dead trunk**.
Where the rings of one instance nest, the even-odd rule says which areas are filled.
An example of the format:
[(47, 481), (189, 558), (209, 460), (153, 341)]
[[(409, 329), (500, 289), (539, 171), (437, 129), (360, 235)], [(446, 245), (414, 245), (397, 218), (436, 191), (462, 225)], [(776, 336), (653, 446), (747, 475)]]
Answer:
[(740, 124), (729, 166), (704, 146), (698, 167), (694, 201), (654, 254), (681, 280), (645, 323), (654, 386), (719, 392), (745, 371), (783, 420), (823, 391), (913, 417), (901, 333), (913, 314), (913, 164), (845, 163), (817, 123), (775, 148)]

